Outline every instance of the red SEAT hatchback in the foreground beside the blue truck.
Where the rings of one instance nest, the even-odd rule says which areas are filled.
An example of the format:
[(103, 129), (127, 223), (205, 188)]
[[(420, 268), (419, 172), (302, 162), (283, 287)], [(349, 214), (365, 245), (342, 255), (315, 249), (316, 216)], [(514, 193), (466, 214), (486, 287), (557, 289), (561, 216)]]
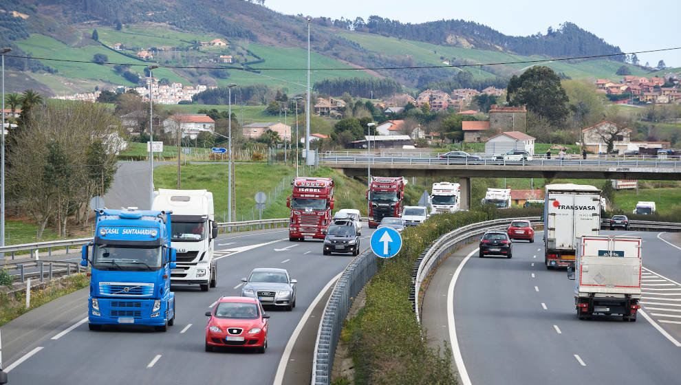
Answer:
[(222, 297), (206, 325), (206, 351), (213, 347), (255, 348), (258, 353), (267, 349), (268, 318), (257, 298)]

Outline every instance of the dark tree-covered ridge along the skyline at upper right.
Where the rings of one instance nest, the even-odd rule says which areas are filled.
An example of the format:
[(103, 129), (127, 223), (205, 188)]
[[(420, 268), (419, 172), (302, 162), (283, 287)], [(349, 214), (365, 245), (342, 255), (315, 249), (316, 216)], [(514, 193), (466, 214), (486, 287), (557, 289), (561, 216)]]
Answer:
[[(620, 47), (610, 45), (591, 32), (568, 22), (563, 23), (558, 30), (549, 27), (546, 34), (532, 36), (507, 36), (486, 25), (464, 20), (411, 24), (371, 16), (366, 23), (358, 18), (354, 22), (336, 20), (334, 25), (347, 30), (354, 29), (437, 45), (505, 50), (522, 55), (592, 56), (622, 53)], [(625, 56), (613, 56), (611, 59), (624, 61)]]

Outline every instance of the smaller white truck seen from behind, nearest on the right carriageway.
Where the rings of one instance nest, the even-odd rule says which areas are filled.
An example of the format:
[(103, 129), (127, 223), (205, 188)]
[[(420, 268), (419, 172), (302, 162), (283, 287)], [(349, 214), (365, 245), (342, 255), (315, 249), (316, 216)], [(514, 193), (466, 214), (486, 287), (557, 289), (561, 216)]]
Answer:
[(641, 298), (642, 242), (638, 236), (582, 236), (574, 272), (574, 305), (580, 320), (620, 314), (636, 321)]

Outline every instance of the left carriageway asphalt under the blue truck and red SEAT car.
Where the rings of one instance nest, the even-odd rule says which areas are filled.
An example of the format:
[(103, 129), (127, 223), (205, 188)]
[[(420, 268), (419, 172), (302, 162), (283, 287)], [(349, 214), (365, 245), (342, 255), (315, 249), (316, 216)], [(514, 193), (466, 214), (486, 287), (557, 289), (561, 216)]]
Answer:
[[(364, 248), (368, 245), (366, 238), (369, 235), (370, 232), (367, 232), (363, 236)], [(239, 251), (254, 244), (260, 246)], [(320, 241), (291, 243), (286, 230), (225, 236), (217, 239), (217, 245), (222, 245), (218, 253), (225, 253), (218, 263), (218, 287), (210, 289), (208, 293), (199, 292), (193, 287), (175, 287), (177, 318), (175, 326), (169, 331), (157, 333), (146, 328), (107, 328), (101, 332), (91, 332), (83, 323), (58, 340), (51, 340), (67, 325), (75, 325), (86, 317), (87, 289), (81, 290), (73, 295), (80, 298), (71, 301), (71, 305), (79, 307), (80, 311), (72, 312), (74, 314), (69, 322), (43, 328), (39, 333), (24, 333), (21, 346), (14, 342), (10, 348), (7, 344), (3, 347), (4, 366), (10, 369), (12, 384), (91, 381), (101, 384), (151, 381), (193, 383), (197, 377), (207, 383), (224, 383), (235, 378), (245, 384), (272, 383), (285, 344), (305, 309), (353, 257), (343, 254), (323, 256)], [(299, 280), (296, 308), (293, 311), (266, 309), (272, 315), (268, 352), (265, 355), (237, 349), (204, 352), (207, 321), (204, 312), (210, 310), (210, 305), (219, 296), (238, 295), (240, 278), (247, 276), (252, 268), (268, 266), (287, 268), (292, 277)], [(53, 303), (58, 304), (60, 301), (61, 298)], [(19, 326), (8, 327), (15, 322)], [(6, 329), (22, 329), (23, 325), (19, 322), (21, 320), (18, 318), (4, 325), (3, 337), (8, 336)], [(43, 349), (12, 367), (26, 353), (39, 347)]]

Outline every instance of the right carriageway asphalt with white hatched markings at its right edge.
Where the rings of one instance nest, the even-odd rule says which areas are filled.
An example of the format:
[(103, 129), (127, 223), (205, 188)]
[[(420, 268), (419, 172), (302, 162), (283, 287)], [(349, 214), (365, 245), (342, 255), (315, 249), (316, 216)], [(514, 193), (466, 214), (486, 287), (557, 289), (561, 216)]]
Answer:
[[(480, 259), (469, 245), (440, 266), (424, 298), (423, 324), (433, 346), (455, 342), (464, 384), (678, 384), (681, 252), (660, 233), (603, 234), (644, 241), (642, 311), (634, 323), (578, 320), (574, 281), (544, 267), (541, 241), (514, 242), (512, 259)], [(660, 238), (681, 247), (679, 234)]]

